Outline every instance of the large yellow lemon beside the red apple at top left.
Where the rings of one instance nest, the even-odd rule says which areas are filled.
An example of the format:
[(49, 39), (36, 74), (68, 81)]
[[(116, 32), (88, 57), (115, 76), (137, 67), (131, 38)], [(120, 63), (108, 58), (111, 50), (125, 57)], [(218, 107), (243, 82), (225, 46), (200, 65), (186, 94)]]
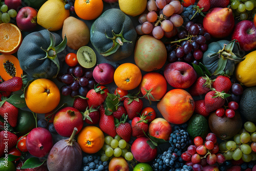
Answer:
[(63, 0), (48, 0), (44, 3), (37, 13), (38, 25), (49, 31), (60, 30), (64, 20), (69, 17), (69, 10), (64, 8)]

